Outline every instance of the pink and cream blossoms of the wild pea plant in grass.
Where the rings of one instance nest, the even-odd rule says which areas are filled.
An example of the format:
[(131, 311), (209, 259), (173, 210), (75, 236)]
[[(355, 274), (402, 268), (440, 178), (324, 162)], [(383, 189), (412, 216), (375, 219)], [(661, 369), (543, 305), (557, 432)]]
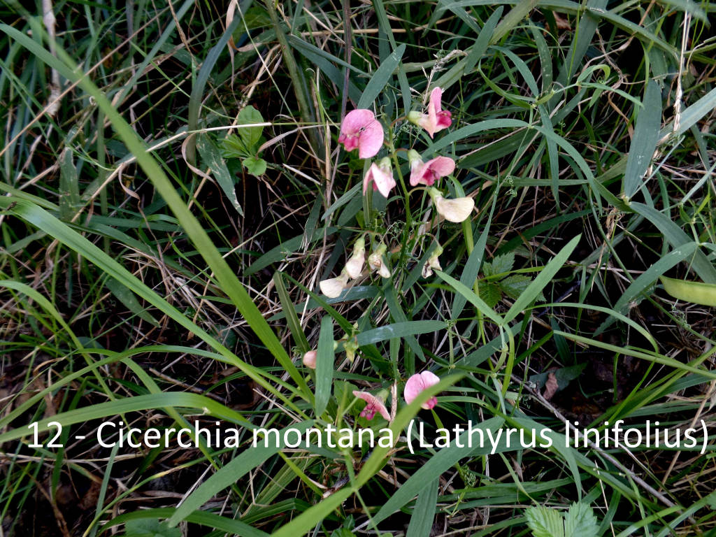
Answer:
[[(387, 126), (387, 139), (385, 137), (386, 127), (376, 119), (371, 110), (352, 110), (344, 117), (338, 137), (339, 143), (347, 151), (358, 150), (359, 158), (371, 161), (367, 165), (367, 171), (363, 178), (362, 192), (367, 198), (367, 203), (364, 204), (364, 207), (371, 207), (370, 198), (375, 193), (379, 193), (379, 195), (388, 200), (397, 198), (404, 203), (406, 221), (398, 224), (403, 230), (401, 242), (393, 244), (390, 243), (386, 236), (384, 223), (379, 221), (376, 215), (370, 213), (370, 209), (367, 209), (368, 214), (364, 214), (364, 222), (372, 225), (364, 229), (355, 238), (351, 256), (347, 259), (339, 276), (320, 282), (321, 291), (329, 298), (337, 299), (349, 288), (350, 281), (361, 279), (370, 274), (389, 280), (388, 285), (391, 285), (392, 281), (390, 279), (402, 279), (403, 275), (399, 272), (397, 273), (395, 269), (391, 270), (390, 267), (405, 267), (410, 253), (416, 249), (427, 251), (431, 244), (432, 253), (427, 258), (427, 261), (423, 263), (422, 277), (430, 278), (434, 270), (442, 270), (438, 258), (442, 253), (442, 246), (437, 242), (439, 228), (434, 227), (434, 233), (430, 234), (422, 233), (422, 227), (415, 231), (415, 216), (412, 215), (410, 210), (411, 195), (427, 193), (431, 201), (431, 208), (437, 213), (439, 219), (461, 223), (470, 218), (470, 214), (473, 213), (475, 202), (472, 198), (446, 198), (442, 190), (437, 188), (437, 186), (440, 186), (442, 178), (454, 173), (455, 160), (445, 156), (437, 156), (426, 162), (422, 159), (420, 153), (412, 147), (410, 149), (395, 147), (397, 133), (393, 126), (398, 122), (405, 122), (405, 120), (425, 130), (431, 139), (437, 132), (450, 127), (453, 124), (453, 120), (450, 111), (442, 109), (442, 89), (435, 87), (430, 92), (427, 113), (412, 110), (407, 117), (398, 118), (391, 122)], [(387, 155), (381, 157), (379, 156), (381, 153), (387, 153)], [(405, 155), (402, 155), (402, 153), (405, 153)], [(407, 158), (410, 166), (410, 189), (407, 188), (405, 178), (401, 172), (399, 155)], [(397, 183), (393, 165), (395, 165), (395, 175), (398, 176), (398, 182), (401, 187), (400, 192), (396, 193), (394, 197), (392, 197), (392, 191), (397, 186)], [(428, 208), (425, 211), (425, 215), (422, 216), (423, 220), (427, 221), (430, 216), (430, 208)], [(435, 215), (432, 216), (434, 217)], [(366, 269), (367, 248), (369, 248), (370, 253), (367, 257)], [(344, 350), (352, 362), (357, 347), (352, 343), (350, 337), (347, 337), (347, 341), (344, 343)], [(310, 351), (304, 354), (304, 365), (315, 367), (314, 353), (315, 351)], [(396, 382), (397, 380), (395, 379)], [(439, 382), (438, 377), (430, 371), (414, 374), (405, 385), (406, 402), (412, 402), (422, 390), (437, 384), (437, 382)], [(367, 403), (365, 409), (361, 412), (361, 416), (367, 420), (372, 419), (376, 412), (379, 412), (387, 421), (392, 421), (395, 418), (395, 400), (393, 401), (392, 412), (389, 414), (384, 407), (383, 399), (359, 390), (354, 390), (353, 395)], [(435, 397), (431, 397), (423, 407), (430, 409), (436, 403)]]

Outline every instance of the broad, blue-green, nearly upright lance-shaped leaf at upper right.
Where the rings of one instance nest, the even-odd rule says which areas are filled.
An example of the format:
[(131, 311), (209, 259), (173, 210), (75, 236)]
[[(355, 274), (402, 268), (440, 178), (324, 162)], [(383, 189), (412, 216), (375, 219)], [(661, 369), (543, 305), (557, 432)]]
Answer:
[(642, 186), (652, 155), (659, 141), (659, 127), (662, 124), (662, 95), (659, 85), (649, 80), (644, 93), (644, 104), (637, 117), (632, 145), (629, 146), (627, 170), (624, 172), (624, 195), (632, 198)]

